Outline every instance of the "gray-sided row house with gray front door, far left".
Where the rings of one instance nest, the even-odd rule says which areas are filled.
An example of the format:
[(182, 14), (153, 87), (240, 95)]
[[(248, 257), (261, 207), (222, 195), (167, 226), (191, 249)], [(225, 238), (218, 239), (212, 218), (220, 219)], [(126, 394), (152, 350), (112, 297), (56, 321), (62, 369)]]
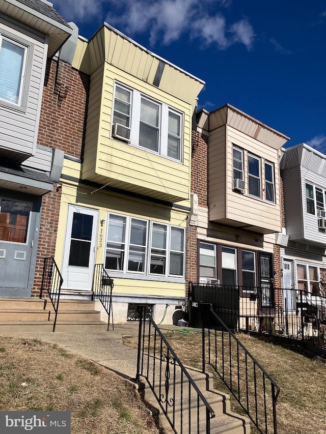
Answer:
[(58, 183), (64, 153), (38, 140), (48, 60), (72, 34), (40, 0), (0, 2), (0, 295), (31, 296), (42, 198)]

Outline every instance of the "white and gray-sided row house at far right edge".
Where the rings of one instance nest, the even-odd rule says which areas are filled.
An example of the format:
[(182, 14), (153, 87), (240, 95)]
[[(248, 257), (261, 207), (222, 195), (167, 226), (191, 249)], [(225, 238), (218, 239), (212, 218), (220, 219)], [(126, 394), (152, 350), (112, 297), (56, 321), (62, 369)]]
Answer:
[(325, 288), (326, 156), (305, 143), (282, 151), (286, 229), (280, 242), (281, 270), (287, 309), (292, 310), (291, 289), (318, 295)]

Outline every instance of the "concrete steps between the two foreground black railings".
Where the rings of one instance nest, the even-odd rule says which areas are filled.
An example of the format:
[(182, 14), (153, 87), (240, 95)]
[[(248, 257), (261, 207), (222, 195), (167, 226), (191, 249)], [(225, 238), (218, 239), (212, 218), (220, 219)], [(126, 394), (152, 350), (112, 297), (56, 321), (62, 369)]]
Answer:
[[(211, 434), (250, 434), (250, 420), (248, 417), (239, 416), (231, 412), (230, 408), (230, 395), (221, 393), (213, 389), (213, 380), (211, 374), (204, 374), (194, 368), (188, 368), (187, 371), (195, 381), (199, 390), (215, 412), (215, 417), (210, 419), (210, 433)], [(197, 406), (197, 394), (191, 389), (189, 396), (189, 389), (187, 383), (182, 385), (181, 395), (181, 376), (176, 375), (175, 386), (171, 384), (168, 392), (168, 400), (174, 399), (175, 407), (173, 414), (173, 407), (164, 403), (164, 409), (167, 411), (171, 420), (174, 419), (174, 427), (177, 432), (182, 434), (200, 434), (206, 433), (206, 407), (200, 400), (199, 408)], [(208, 390), (206, 390), (206, 388)], [(162, 379), (160, 386), (154, 388), (157, 396), (165, 394), (165, 379)], [(148, 385), (145, 378), (141, 378), (138, 382), (138, 391), (143, 400), (148, 404), (148, 408), (153, 417), (158, 417), (160, 425), (165, 429), (167, 434), (173, 432), (170, 423), (161, 410), (153, 391)], [(181, 398), (182, 396), (182, 398)], [(182, 402), (181, 402), (182, 401)], [(197, 415), (199, 414), (200, 422), (197, 422)], [(181, 428), (182, 427), (182, 428)]]

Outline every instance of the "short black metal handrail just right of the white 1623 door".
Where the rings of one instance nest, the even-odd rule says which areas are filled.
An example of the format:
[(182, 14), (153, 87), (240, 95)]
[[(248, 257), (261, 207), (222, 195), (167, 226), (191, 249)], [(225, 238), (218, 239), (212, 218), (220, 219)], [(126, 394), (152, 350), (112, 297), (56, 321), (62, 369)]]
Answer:
[(112, 290), (113, 290), (113, 279), (107, 274), (104, 269), (103, 264), (95, 264), (94, 276), (93, 276), (93, 291), (92, 300), (98, 299), (102, 306), (104, 307), (108, 319), (107, 319), (107, 330), (110, 329), (110, 320), (112, 316), (112, 330), (114, 330), (113, 324), (113, 310), (112, 310)]

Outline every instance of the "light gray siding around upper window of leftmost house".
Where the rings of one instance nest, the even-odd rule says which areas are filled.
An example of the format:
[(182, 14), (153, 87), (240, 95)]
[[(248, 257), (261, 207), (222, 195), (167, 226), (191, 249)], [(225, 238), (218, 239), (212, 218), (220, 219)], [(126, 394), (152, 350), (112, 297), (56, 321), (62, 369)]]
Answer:
[(0, 100), (0, 155), (2, 150), (7, 155), (10, 151), (13, 161), (22, 161), (36, 152), (47, 45), (45, 37), (28, 32), (0, 16), (2, 32), (16, 37), (17, 42), (25, 41), (29, 47), (21, 106)]

